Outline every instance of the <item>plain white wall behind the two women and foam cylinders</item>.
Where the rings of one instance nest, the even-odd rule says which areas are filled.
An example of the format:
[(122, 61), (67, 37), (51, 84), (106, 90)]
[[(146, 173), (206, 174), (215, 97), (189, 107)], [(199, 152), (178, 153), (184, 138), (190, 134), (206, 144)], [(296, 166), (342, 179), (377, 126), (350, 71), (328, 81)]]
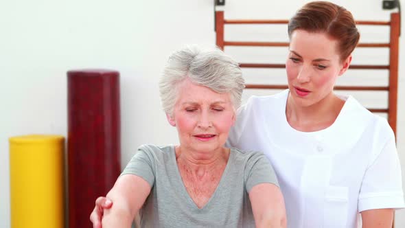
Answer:
[[(305, 2), (229, 0), (225, 16), (288, 19)], [(345, 5), (359, 20), (389, 19), (389, 12), (381, 10), (380, 0), (334, 2)], [(404, 34), (404, 25), (402, 31)], [(231, 33), (240, 37), (249, 34), (243, 34), (242, 29)], [(67, 135), (69, 69), (102, 67), (120, 71), (123, 164), (140, 144), (176, 144), (176, 130), (166, 123), (160, 109), (157, 81), (170, 52), (186, 43), (215, 43), (213, 1), (1, 2), (0, 227), (10, 227), (8, 137)], [(397, 137), (403, 166), (404, 46), (402, 35)], [(238, 57), (233, 49), (226, 52), (243, 58), (249, 51)], [(397, 212), (396, 222), (397, 227), (405, 226), (405, 212)]]

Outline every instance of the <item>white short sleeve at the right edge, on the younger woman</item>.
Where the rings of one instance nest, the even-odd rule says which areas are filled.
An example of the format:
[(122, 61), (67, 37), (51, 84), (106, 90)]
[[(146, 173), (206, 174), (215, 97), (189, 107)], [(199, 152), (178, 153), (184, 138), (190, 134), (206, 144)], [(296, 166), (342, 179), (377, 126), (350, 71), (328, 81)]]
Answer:
[(392, 134), (364, 174), (358, 197), (358, 212), (403, 207), (405, 205), (400, 159)]

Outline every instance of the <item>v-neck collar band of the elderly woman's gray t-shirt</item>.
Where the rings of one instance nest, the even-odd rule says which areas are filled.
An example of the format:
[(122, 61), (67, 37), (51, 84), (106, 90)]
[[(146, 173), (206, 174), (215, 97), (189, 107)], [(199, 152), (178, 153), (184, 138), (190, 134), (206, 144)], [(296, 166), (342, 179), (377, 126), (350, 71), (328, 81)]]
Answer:
[(219, 191), (222, 191), (222, 189), (223, 189), (223, 187), (222, 187), (223, 182), (224, 182), (225, 179), (227, 179), (228, 172), (229, 172), (229, 171), (228, 171), (228, 170), (229, 170), (229, 166), (230, 166), (229, 163), (231, 163), (231, 159), (233, 159), (232, 148), (229, 149), (229, 158), (228, 158), (228, 161), (227, 161), (227, 166), (225, 166), (224, 172), (222, 173), (220, 182), (218, 183), (218, 186), (216, 187), (216, 190), (213, 192), (213, 194), (211, 195), (211, 197), (209, 198), (209, 200), (207, 201), (207, 203), (205, 203), (205, 205), (204, 205), (203, 207), (201, 207), (201, 208), (199, 208), (199, 207), (196, 205), (196, 203), (195, 203), (195, 202), (193, 201), (193, 199), (192, 199), (192, 196), (190, 196), (189, 193), (187, 192), (187, 189), (185, 188), (185, 185), (184, 185), (184, 183), (183, 183), (183, 179), (181, 179), (180, 170), (178, 170), (177, 161), (176, 161), (176, 150), (175, 150), (175, 147), (172, 146), (171, 150), (172, 150), (172, 155), (173, 155), (171, 162), (174, 163), (174, 167), (175, 167), (175, 170), (176, 170), (176, 176), (174, 176), (174, 179), (175, 179), (175, 181), (177, 182), (176, 185), (181, 186), (181, 187), (180, 187), (180, 188), (181, 188), (181, 189), (180, 189), (181, 195), (183, 195), (183, 197), (187, 199), (187, 203), (188, 203), (188, 205), (189, 205), (191, 208), (197, 209), (197, 210), (199, 210), (199, 211), (205, 210), (207, 207), (209, 207), (209, 206), (212, 204), (211, 201), (215, 202), (214, 199), (216, 198), (216, 195), (218, 195), (218, 192), (219, 192)]

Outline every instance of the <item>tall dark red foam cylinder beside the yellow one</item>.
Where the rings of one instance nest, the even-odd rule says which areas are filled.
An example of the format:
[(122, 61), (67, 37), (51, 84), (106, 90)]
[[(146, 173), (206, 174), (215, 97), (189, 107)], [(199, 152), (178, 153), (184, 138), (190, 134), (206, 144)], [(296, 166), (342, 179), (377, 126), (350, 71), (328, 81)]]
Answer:
[(91, 227), (95, 199), (121, 170), (119, 72), (72, 70), (67, 81), (69, 227)]

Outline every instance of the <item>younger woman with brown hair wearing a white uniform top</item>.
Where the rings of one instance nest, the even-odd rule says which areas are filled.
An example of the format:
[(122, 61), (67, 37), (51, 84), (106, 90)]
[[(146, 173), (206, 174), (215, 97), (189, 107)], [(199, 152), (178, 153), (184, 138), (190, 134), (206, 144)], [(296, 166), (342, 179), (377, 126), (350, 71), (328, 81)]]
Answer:
[[(400, 161), (386, 119), (334, 84), (359, 33), (351, 13), (308, 3), (288, 25), (288, 90), (252, 97), (228, 146), (264, 152), (279, 179), (288, 227), (391, 227), (404, 207)], [(361, 214), (361, 218), (360, 218)]]

